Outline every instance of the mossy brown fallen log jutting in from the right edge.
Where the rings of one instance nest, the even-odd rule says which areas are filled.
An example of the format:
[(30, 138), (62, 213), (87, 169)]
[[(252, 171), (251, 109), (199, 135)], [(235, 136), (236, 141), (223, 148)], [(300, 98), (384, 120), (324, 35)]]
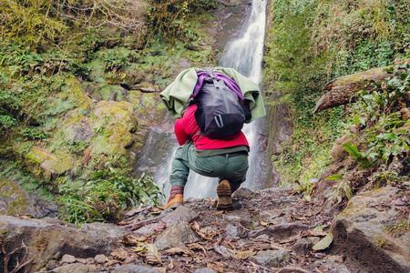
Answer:
[[(395, 65), (410, 64), (410, 59), (398, 62)], [(374, 82), (381, 82), (385, 78), (393, 76), (387, 74), (384, 69), (393, 66), (384, 66), (370, 69), (364, 72), (356, 73), (348, 76), (341, 76), (333, 79), (323, 87), (325, 93), (314, 107), (313, 114), (319, 113), (325, 109), (333, 108), (335, 106), (343, 106), (348, 103), (355, 102), (354, 94), (360, 90), (372, 91), (373, 86), (366, 85), (367, 81), (374, 80)]]

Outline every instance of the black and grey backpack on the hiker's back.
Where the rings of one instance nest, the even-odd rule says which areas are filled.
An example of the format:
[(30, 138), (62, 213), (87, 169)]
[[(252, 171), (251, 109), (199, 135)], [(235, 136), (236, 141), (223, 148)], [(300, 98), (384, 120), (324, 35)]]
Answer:
[(245, 121), (251, 119), (251, 110), (222, 79), (212, 75), (212, 68), (205, 71), (210, 76), (194, 96), (200, 134), (211, 139), (229, 139), (240, 133)]

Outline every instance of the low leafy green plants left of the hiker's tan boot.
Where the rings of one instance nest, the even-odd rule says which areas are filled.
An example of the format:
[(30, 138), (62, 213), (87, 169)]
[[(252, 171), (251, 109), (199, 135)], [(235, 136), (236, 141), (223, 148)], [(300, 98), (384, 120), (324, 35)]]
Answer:
[(62, 187), (60, 191), (63, 196), (57, 201), (65, 209), (65, 220), (77, 225), (94, 221), (115, 222), (124, 209), (157, 204), (162, 197), (150, 176), (143, 174), (134, 179), (118, 177), (108, 171), (98, 171), (85, 187)]

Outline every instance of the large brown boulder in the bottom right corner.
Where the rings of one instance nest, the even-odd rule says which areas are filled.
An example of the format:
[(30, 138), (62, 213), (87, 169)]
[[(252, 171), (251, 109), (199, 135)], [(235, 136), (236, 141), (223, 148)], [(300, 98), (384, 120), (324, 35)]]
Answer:
[(395, 230), (408, 220), (396, 205), (399, 192), (381, 187), (352, 197), (333, 219), (333, 250), (367, 272), (410, 272), (410, 232)]

